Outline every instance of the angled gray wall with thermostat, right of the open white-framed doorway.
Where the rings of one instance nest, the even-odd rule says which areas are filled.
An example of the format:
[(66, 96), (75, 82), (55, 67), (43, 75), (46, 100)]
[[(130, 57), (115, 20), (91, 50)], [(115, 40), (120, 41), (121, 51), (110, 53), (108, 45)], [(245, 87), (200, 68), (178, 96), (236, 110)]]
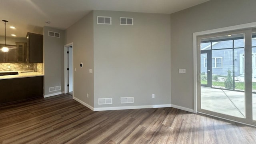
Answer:
[[(82, 100), (90, 106), (94, 106), (94, 78), (89, 69), (94, 67), (93, 50), (93, 12), (84, 16), (81, 20), (66, 30), (66, 44), (73, 42), (74, 64), (74, 97)], [(80, 68), (80, 63), (83, 68)], [(86, 94), (89, 94), (89, 98)]]

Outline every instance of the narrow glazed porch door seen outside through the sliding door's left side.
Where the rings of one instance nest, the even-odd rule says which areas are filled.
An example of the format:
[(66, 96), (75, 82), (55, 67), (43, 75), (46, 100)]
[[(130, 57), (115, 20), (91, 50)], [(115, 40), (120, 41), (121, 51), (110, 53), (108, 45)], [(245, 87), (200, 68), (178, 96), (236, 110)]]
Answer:
[(211, 50), (201, 50), (201, 86), (212, 87)]

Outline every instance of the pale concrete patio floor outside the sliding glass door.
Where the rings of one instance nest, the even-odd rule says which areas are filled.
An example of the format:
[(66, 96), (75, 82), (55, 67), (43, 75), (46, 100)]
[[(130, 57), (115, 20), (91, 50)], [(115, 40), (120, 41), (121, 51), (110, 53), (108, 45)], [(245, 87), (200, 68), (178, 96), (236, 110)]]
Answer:
[[(244, 92), (201, 87), (201, 108), (221, 114), (245, 117)], [(252, 94), (253, 119), (256, 120), (256, 94)]]

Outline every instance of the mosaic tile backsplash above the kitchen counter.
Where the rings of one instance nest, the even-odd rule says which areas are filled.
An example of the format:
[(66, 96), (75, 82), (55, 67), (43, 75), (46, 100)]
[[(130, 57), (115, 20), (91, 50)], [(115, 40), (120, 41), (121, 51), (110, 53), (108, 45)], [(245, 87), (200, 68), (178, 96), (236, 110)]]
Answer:
[[(28, 67), (27, 67), (28, 66)], [(0, 63), (0, 71), (34, 70), (43, 73), (42, 63)]]

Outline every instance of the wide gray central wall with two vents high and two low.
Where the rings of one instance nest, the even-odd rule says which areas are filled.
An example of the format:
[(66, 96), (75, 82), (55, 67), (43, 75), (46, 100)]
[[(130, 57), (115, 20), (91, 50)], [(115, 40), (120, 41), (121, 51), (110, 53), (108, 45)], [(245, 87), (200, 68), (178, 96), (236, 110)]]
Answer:
[[(97, 16), (112, 16), (112, 25), (97, 24)], [(119, 17), (134, 25), (119, 25)], [(170, 65), (170, 14), (94, 10), (95, 108), (170, 104)], [(98, 105), (98, 98), (113, 104)]]

